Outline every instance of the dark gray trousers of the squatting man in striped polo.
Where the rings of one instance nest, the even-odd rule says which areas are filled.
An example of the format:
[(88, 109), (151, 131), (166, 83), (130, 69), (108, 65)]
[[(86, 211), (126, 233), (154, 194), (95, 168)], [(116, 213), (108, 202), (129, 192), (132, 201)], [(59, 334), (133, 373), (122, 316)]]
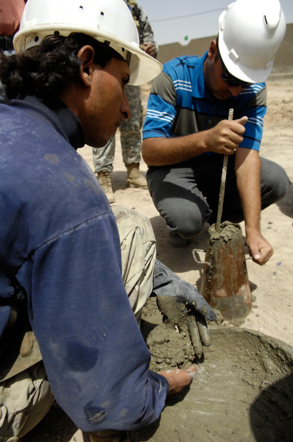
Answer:
[[(281, 199), (290, 180), (284, 169), (261, 160), (262, 210)], [(244, 220), (234, 172), (235, 155), (229, 156), (222, 222)], [(201, 157), (165, 167), (151, 167), (146, 181), (154, 205), (165, 218), (169, 232), (189, 239), (198, 235), (206, 221), (217, 220), (223, 155)]]

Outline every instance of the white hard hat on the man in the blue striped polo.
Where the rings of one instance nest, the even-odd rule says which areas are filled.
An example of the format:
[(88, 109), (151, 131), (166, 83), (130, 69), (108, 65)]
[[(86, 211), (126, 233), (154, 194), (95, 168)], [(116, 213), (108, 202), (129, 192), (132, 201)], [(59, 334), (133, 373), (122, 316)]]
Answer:
[(218, 48), (230, 74), (248, 83), (267, 80), (286, 31), (279, 0), (236, 0), (219, 27)]

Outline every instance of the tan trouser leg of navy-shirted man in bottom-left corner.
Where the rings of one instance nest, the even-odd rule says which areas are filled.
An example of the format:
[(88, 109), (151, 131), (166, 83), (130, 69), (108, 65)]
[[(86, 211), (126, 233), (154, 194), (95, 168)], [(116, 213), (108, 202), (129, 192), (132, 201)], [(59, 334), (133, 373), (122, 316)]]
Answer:
[(53, 401), (43, 361), (0, 382), (0, 442), (17, 441), (28, 433)]

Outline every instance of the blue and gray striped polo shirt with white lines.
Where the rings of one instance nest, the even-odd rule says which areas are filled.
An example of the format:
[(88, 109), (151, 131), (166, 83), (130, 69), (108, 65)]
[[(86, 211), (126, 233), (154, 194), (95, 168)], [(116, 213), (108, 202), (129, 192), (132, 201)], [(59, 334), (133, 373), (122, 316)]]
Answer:
[(218, 100), (204, 81), (206, 57), (207, 52), (203, 57), (177, 57), (165, 63), (150, 92), (143, 139), (179, 137), (211, 129), (228, 119), (229, 109), (233, 107), (234, 119), (248, 117), (239, 147), (259, 150), (267, 110), (266, 84), (252, 84), (237, 97)]

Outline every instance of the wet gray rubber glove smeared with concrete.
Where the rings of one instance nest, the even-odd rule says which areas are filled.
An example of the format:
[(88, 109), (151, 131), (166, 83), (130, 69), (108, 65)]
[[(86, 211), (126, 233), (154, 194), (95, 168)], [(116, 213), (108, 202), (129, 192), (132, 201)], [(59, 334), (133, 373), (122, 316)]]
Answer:
[(210, 345), (206, 318), (216, 320), (216, 314), (192, 284), (179, 278), (172, 270), (156, 259), (153, 274), (153, 293), (163, 314), (163, 321), (170, 327), (177, 325), (181, 331), (187, 324), (195, 354), (203, 354), (203, 345)]

